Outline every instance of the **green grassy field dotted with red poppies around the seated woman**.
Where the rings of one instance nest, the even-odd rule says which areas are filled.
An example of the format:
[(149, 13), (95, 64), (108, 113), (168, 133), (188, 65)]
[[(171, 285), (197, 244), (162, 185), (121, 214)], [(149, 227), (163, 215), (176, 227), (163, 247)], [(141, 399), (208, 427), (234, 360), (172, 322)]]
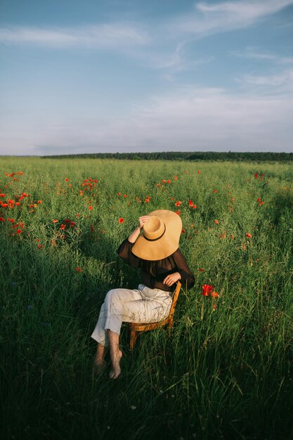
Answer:
[[(1, 157), (0, 201), (1, 439), (293, 438), (292, 165)], [(110, 381), (90, 335), (155, 209), (181, 216), (195, 287), (171, 338), (131, 354), (122, 328)]]

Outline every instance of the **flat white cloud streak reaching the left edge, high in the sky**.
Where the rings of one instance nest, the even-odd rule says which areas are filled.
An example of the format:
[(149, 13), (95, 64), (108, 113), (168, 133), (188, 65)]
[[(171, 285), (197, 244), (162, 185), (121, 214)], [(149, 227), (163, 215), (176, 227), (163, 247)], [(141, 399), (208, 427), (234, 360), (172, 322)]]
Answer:
[(0, 41), (10, 44), (35, 44), (54, 48), (85, 46), (121, 48), (147, 44), (148, 34), (138, 27), (104, 24), (78, 28), (2, 27)]

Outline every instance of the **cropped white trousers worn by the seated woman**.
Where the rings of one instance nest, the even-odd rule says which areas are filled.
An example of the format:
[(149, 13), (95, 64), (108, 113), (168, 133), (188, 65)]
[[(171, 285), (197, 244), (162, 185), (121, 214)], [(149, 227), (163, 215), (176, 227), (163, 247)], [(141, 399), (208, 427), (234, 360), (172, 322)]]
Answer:
[(155, 323), (167, 318), (171, 309), (171, 295), (171, 292), (150, 289), (143, 284), (134, 290), (109, 290), (91, 337), (100, 344), (109, 345), (107, 330), (119, 335), (122, 322)]

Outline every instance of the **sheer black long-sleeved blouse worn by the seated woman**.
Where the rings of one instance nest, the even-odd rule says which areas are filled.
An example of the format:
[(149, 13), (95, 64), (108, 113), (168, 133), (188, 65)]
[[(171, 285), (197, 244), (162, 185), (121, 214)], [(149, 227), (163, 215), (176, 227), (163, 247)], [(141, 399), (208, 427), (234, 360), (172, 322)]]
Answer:
[(119, 246), (117, 254), (126, 264), (129, 264), (129, 266), (141, 269), (141, 280), (144, 285), (150, 287), (150, 289), (161, 289), (172, 292), (174, 286), (169, 287), (167, 284), (163, 284), (163, 281), (170, 273), (178, 272), (181, 275), (180, 282), (182, 287), (193, 287), (195, 278), (179, 249), (177, 249), (174, 254), (162, 260), (147, 261), (136, 257), (136, 255), (131, 252), (133, 246), (134, 243), (129, 242), (126, 238)]

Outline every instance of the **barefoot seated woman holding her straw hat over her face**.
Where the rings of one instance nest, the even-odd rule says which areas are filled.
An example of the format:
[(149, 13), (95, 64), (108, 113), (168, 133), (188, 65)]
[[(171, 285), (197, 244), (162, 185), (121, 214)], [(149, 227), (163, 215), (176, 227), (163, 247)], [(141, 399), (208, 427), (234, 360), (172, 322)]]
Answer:
[[(143, 232), (141, 234), (141, 231)], [(117, 254), (126, 264), (141, 269), (137, 289), (112, 289), (100, 309), (91, 337), (98, 342), (95, 365), (104, 365), (105, 347), (110, 345), (110, 378), (121, 373), (119, 334), (122, 322), (152, 323), (169, 315), (174, 283), (192, 287), (193, 274), (178, 249), (182, 221), (175, 212), (159, 209), (138, 219), (138, 226), (122, 242)]]

